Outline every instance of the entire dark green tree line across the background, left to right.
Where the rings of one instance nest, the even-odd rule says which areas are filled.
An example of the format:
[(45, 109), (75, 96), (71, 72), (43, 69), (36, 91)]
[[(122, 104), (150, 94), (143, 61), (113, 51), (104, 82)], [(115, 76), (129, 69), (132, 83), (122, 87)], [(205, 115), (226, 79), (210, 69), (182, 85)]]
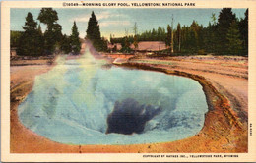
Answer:
[[(174, 53), (218, 55), (248, 55), (248, 9), (242, 19), (237, 19), (230, 8), (221, 10), (218, 19), (215, 14), (207, 27), (193, 21), (190, 26), (178, 23), (177, 27), (164, 27), (137, 33), (135, 24), (134, 35), (113, 38), (110, 42), (121, 43), (122, 52), (131, 52), (130, 45), (138, 46), (139, 41), (164, 41), (167, 47), (173, 44)], [(42, 8), (37, 20), (46, 25), (42, 32), (40, 24), (33, 19), (32, 13), (26, 17), (24, 31), (11, 31), (11, 47), (17, 47), (18, 55), (41, 56), (53, 53), (80, 52), (78, 27), (74, 22), (71, 35), (62, 34), (62, 27), (58, 24), (58, 14), (52, 8)], [(173, 42), (171, 39), (173, 36)], [(96, 15), (92, 12), (88, 22), (85, 39), (90, 39), (97, 51), (107, 51), (107, 40), (101, 37), (100, 27)], [(168, 49), (167, 52), (170, 52)]]

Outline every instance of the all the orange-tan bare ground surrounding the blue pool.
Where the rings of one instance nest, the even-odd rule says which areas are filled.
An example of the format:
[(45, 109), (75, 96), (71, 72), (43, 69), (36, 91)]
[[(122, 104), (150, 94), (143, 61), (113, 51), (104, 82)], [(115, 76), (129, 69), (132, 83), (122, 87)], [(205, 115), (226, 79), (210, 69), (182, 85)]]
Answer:
[[(108, 54), (105, 56), (120, 57)], [(48, 65), (47, 62), (42, 65), (27, 63), (26, 66), (11, 66), (11, 153), (248, 152), (247, 58), (137, 57), (130, 58), (128, 63), (121, 65), (199, 81), (209, 106), (204, 128), (196, 136), (173, 142), (138, 145), (67, 145), (38, 136), (24, 127), (19, 121), (18, 105), (32, 90), (34, 77), (49, 71), (53, 66), (54, 64)]]

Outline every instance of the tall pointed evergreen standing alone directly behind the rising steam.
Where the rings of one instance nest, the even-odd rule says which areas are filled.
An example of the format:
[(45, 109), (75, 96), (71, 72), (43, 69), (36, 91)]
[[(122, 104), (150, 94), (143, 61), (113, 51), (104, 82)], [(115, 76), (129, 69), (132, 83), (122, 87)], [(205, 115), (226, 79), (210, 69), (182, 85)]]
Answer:
[(90, 39), (93, 42), (94, 47), (96, 50), (102, 49), (102, 40), (100, 36), (100, 29), (98, 22), (96, 20), (96, 15), (94, 11), (91, 14), (91, 17), (88, 22), (88, 28), (87, 28), (87, 36), (86, 38)]

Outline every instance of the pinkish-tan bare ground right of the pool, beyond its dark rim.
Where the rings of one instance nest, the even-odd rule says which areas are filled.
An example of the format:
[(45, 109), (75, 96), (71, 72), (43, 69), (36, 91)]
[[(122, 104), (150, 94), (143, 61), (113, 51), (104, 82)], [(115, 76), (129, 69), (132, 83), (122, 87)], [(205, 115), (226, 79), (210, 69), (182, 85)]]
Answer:
[(248, 117), (248, 60), (243, 57), (169, 57), (160, 59), (132, 59), (172, 71), (186, 72), (206, 78), (226, 96), (242, 121)]

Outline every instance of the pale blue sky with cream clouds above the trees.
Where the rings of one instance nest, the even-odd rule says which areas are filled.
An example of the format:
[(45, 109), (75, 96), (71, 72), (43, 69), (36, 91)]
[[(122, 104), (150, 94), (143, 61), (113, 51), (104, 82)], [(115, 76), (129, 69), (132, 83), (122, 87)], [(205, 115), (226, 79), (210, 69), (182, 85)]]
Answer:
[[(150, 30), (152, 28), (164, 27), (171, 24), (171, 17), (174, 18), (174, 27), (178, 23), (181, 26), (190, 26), (193, 20), (197, 21), (199, 25), (206, 27), (211, 21), (212, 13), (216, 14), (218, 19), (221, 9), (60, 9), (54, 8), (58, 13), (58, 23), (62, 26), (63, 34), (70, 34), (73, 22), (76, 21), (80, 37), (84, 38), (88, 26), (88, 20), (92, 11), (95, 12), (96, 18), (99, 22), (101, 36), (109, 38), (110, 34), (115, 37), (123, 36), (125, 29), (129, 34), (133, 34), (133, 26), (135, 22), (138, 26), (139, 33)], [(238, 18), (244, 18), (246, 9), (232, 9), (233, 13)], [(39, 8), (12, 8), (11, 9), (11, 30), (23, 30), (22, 26), (25, 24), (25, 18), (28, 12), (31, 12), (33, 19), (38, 17)], [(38, 20), (36, 20), (39, 23)], [(41, 24), (42, 29), (45, 26)]]

